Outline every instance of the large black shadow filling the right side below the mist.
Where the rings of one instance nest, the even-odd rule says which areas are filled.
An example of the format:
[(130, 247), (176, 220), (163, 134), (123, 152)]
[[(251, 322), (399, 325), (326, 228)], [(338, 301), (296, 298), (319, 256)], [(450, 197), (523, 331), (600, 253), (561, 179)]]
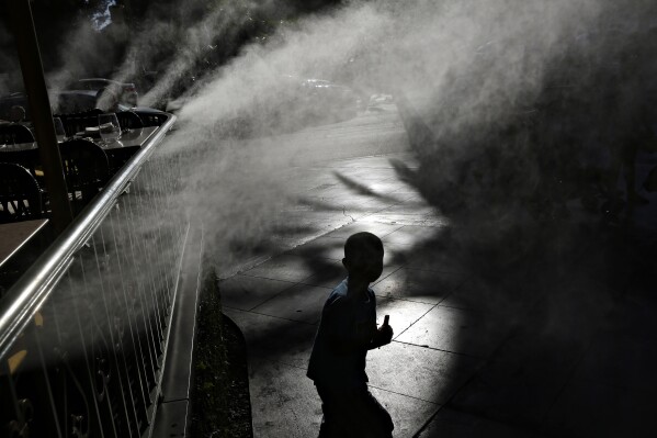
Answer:
[[(654, 385), (645, 364), (654, 363), (657, 214), (636, 169), (654, 165), (655, 38), (599, 36), (610, 38), (603, 60), (585, 59), (585, 70), (565, 56), (532, 106), (462, 131), (450, 132), (457, 98), (419, 113), (397, 97), (420, 162), (397, 166), (399, 177), (452, 222), (412, 260), (465, 272), (458, 305), (483, 312), (486, 333), (509, 329), (445, 404), (482, 423), (468, 436), (487, 436), (485, 422), (548, 436), (648, 436), (637, 408), (642, 386)], [(422, 436), (454, 433), (445, 415)]]

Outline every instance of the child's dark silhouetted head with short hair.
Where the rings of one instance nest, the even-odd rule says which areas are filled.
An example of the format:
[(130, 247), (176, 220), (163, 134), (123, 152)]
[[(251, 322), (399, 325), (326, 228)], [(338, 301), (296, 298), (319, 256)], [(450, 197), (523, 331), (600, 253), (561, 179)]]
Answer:
[(350, 278), (375, 281), (383, 272), (383, 243), (366, 232), (349, 236), (344, 243), (342, 265)]

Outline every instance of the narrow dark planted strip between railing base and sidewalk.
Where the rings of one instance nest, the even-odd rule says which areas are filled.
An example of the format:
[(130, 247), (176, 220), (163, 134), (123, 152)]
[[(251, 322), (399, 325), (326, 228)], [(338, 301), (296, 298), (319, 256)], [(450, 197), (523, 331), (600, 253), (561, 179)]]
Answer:
[(214, 271), (206, 274), (197, 321), (192, 436), (252, 437), (246, 342), (237, 325), (222, 314)]

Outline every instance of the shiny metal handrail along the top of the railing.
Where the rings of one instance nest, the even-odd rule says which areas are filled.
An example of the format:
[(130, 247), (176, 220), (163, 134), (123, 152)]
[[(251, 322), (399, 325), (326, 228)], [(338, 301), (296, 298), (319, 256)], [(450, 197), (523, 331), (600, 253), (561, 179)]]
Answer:
[(0, 358), (7, 355), (13, 339), (46, 301), (61, 276), (70, 266), (73, 255), (98, 229), (110, 214), (118, 196), (139, 172), (141, 165), (152, 155), (156, 146), (175, 123), (175, 115), (156, 131), (146, 144), (107, 182), (98, 196), (73, 220), (41, 257), (25, 271), (0, 300)]

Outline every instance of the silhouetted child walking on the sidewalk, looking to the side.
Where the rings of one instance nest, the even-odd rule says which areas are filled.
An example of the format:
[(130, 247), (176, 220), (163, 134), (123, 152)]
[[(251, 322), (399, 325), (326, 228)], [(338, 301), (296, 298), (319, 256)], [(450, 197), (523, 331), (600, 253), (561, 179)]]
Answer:
[(348, 278), (330, 293), (321, 312), (308, 364), (324, 417), (319, 437), (392, 437), (393, 420), (367, 390), (367, 350), (387, 345), (393, 328), (376, 328), (376, 300), (370, 283), (383, 271), (383, 244), (356, 233), (344, 244)]

